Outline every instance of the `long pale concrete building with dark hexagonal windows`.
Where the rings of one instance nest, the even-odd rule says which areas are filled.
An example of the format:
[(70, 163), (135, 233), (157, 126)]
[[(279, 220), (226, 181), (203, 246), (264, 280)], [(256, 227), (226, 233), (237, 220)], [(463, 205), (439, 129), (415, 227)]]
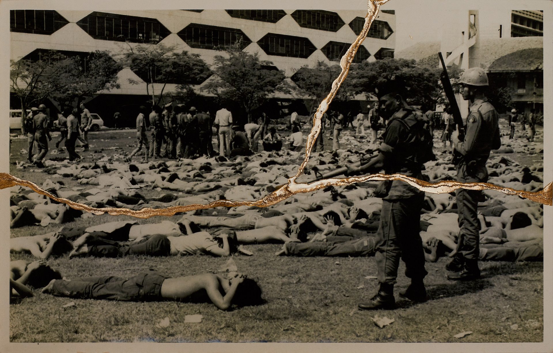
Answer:
[[(165, 44), (199, 54), (212, 64), (221, 54), (218, 48), (242, 38), (242, 50), (257, 52), (261, 60), (273, 62), (291, 77), (301, 66), (317, 61), (337, 64), (360, 33), (364, 15), (363, 10), (11, 10), (11, 59), (36, 59), (41, 51), (52, 49), (66, 55), (108, 50), (116, 57), (140, 44)], [(381, 10), (354, 61), (393, 57), (394, 31), (394, 11)], [(148, 99), (140, 76), (129, 68), (121, 70), (121, 88), (98, 92), (88, 106), (109, 125), (115, 111), (126, 106), (134, 110)], [(195, 85), (195, 90), (200, 92), (212, 79)], [(178, 83), (169, 83), (165, 92), (174, 91)], [(161, 84), (153, 89), (159, 92)], [(17, 108), (14, 99), (12, 103)]]

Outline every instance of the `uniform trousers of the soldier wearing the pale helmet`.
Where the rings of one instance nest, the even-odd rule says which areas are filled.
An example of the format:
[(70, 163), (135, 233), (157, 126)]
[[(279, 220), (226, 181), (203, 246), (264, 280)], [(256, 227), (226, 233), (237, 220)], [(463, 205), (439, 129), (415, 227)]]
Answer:
[[(486, 182), (488, 171), (486, 166), (476, 166), (470, 173), (467, 166), (461, 165), (457, 171), (457, 181), (460, 182)], [(462, 239), (460, 253), (465, 259), (477, 260), (480, 244), (480, 225), (478, 223), (478, 200), (482, 197), (482, 191), (457, 189), (458, 224), (460, 238)]]

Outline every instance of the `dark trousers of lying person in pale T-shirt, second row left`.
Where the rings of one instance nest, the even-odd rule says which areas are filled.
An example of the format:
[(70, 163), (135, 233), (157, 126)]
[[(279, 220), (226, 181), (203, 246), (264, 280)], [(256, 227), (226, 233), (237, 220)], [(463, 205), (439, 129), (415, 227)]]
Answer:
[(87, 242), (88, 255), (95, 257), (120, 257), (127, 255), (169, 256), (171, 242), (163, 234), (155, 234), (131, 244), (95, 238)]

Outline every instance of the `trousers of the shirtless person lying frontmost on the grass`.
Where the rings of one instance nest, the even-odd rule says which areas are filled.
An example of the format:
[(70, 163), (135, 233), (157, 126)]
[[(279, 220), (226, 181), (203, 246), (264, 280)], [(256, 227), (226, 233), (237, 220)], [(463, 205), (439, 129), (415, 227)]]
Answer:
[(140, 273), (128, 280), (115, 276), (55, 280), (51, 294), (79, 299), (110, 299), (114, 301), (157, 301), (165, 278), (156, 272)]

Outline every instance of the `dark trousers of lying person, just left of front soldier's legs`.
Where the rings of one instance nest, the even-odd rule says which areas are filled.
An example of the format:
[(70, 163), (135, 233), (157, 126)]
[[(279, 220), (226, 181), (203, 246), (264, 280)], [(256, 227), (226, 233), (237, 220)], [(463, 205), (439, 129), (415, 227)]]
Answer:
[(374, 240), (373, 236), (365, 236), (343, 243), (331, 241), (289, 242), (285, 243), (284, 246), (286, 247), (286, 254), (295, 256), (372, 256), (375, 252)]

